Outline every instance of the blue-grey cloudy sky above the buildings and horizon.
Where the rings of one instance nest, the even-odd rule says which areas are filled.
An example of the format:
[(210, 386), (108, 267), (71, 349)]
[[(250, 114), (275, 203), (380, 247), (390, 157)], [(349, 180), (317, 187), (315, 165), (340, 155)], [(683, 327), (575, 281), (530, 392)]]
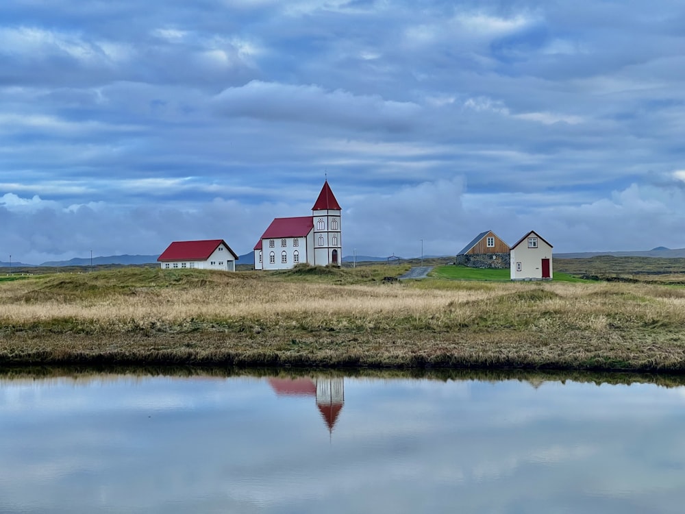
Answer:
[(685, 5), (3, 0), (0, 261), (253, 248), (324, 180), (343, 254), (685, 247)]

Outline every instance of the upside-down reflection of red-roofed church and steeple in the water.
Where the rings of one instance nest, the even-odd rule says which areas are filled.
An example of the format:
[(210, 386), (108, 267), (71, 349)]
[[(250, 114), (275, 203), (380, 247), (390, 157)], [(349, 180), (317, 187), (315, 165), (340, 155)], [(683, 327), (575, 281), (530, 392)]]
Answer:
[(343, 378), (269, 378), (269, 384), (279, 396), (316, 397), (316, 407), (319, 408), (328, 431), (333, 432), (345, 403)]

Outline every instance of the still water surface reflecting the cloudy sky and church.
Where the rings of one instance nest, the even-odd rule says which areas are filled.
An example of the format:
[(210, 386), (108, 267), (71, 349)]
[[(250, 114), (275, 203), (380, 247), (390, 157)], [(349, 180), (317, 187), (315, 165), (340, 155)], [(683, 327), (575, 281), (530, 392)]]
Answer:
[(0, 381), (0, 513), (682, 513), (685, 388)]

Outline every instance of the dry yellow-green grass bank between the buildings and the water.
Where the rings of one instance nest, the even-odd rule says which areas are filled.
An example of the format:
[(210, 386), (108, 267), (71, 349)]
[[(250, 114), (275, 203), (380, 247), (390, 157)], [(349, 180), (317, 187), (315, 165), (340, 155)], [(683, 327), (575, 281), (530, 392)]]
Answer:
[(404, 271), (123, 268), (0, 282), (0, 365), (685, 371), (682, 287), (382, 280)]

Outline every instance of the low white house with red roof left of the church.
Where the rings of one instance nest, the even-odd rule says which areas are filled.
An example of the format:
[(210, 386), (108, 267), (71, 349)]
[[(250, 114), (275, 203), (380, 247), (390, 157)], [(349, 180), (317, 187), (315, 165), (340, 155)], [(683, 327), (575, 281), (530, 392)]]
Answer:
[(236, 271), (238, 256), (223, 239), (174, 241), (157, 258), (162, 269), (218, 269)]

